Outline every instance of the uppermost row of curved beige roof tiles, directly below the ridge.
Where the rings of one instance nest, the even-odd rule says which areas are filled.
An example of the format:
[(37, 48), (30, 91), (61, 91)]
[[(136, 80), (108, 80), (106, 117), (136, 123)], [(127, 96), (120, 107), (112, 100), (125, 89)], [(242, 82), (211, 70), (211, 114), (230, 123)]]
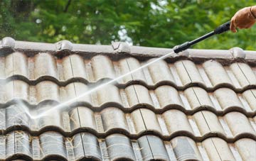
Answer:
[[(14, 57), (14, 62), (12, 57)], [(40, 82), (43, 79), (48, 79), (62, 85), (67, 84), (65, 81), (70, 82), (70, 79), (77, 79), (85, 83), (97, 82), (100, 79), (113, 79), (144, 64), (131, 57), (110, 60), (109, 57), (103, 55), (97, 55), (92, 59), (80, 55), (70, 55), (60, 60), (58, 57), (44, 52), (33, 57), (26, 57), (21, 52), (14, 52), (7, 55), (3, 63), (5, 68), (1, 75), (4, 78), (15, 75), (15, 77), (26, 79), (26, 81)], [(104, 65), (104, 67), (99, 65)], [(255, 85), (255, 74), (253, 74), (252, 68), (249, 67), (249, 69), (244, 63), (234, 62), (230, 68), (224, 68), (213, 60), (204, 62), (203, 66), (195, 65), (189, 60), (180, 60), (174, 63), (175, 66), (170, 63), (168, 65), (169, 67), (163, 61), (156, 62), (156, 65), (152, 64), (144, 70), (134, 72), (132, 77), (127, 75), (123, 80), (119, 80), (119, 83), (127, 84), (139, 81), (149, 87), (167, 83), (179, 88), (187, 87), (189, 84), (200, 84), (201, 87), (211, 90), (220, 86), (228, 86), (238, 91)], [(239, 69), (238, 65), (240, 65)], [(159, 72), (153, 72), (156, 70)], [(247, 81), (242, 73), (243, 75), (247, 74)], [(215, 74), (221, 75), (215, 77)], [(249, 79), (250, 82), (248, 82)]]

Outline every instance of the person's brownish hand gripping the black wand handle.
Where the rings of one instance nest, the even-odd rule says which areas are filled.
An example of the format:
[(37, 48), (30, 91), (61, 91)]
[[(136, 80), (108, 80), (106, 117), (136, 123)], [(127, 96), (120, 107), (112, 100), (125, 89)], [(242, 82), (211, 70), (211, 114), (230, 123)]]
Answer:
[(256, 22), (256, 6), (249, 6), (240, 9), (233, 18), (231, 18), (230, 30), (236, 33), (235, 28), (250, 28)]

